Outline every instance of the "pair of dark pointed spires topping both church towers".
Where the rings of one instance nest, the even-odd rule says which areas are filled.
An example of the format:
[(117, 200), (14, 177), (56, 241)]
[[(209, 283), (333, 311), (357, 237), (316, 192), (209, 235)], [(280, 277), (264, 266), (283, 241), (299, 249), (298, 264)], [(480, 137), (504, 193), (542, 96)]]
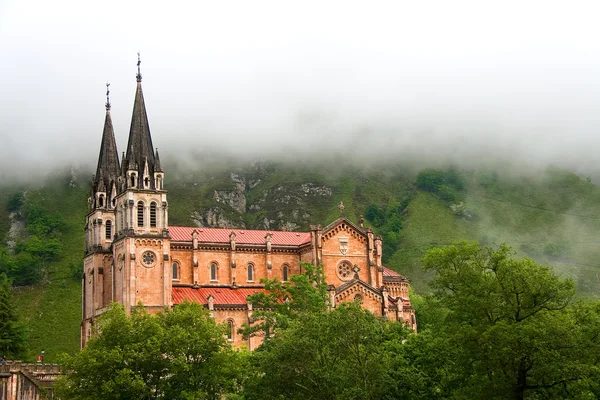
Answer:
[[(92, 191), (110, 192), (113, 186), (117, 192), (124, 190), (119, 182), (128, 182), (128, 171), (136, 171), (136, 187), (142, 188), (144, 176), (154, 177), (155, 172), (162, 172), (158, 149), (156, 152), (152, 145), (152, 136), (150, 135), (150, 125), (146, 114), (146, 105), (144, 94), (142, 92), (142, 74), (140, 71), (140, 53), (138, 53), (137, 62), (137, 88), (135, 100), (133, 103), (133, 114), (131, 116), (131, 126), (129, 129), (129, 141), (127, 144), (127, 154), (123, 154), (121, 162), (117, 152), (115, 134), (110, 116), (110, 83), (106, 84), (106, 117), (104, 120), (104, 131), (102, 133), (102, 143), (100, 145), (100, 155), (98, 158), (98, 167), (96, 175), (92, 182)], [(119, 179), (119, 177), (123, 179)], [(150, 188), (155, 189), (154, 179), (149, 180)]]

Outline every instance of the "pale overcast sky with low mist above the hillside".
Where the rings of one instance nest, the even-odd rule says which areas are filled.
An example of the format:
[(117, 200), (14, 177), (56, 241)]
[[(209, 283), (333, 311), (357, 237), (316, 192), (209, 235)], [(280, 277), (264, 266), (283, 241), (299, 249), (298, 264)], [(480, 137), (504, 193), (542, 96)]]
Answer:
[[(597, 1), (0, 0), (0, 168), (154, 145), (600, 165)], [(0, 175), (2, 177), (2, 175)]]

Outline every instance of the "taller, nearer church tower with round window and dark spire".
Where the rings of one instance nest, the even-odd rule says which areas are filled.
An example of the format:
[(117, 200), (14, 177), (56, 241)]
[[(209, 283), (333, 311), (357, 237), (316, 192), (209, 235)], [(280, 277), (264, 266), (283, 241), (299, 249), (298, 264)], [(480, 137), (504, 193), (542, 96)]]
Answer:
[(167, 192), (158, 150), (152, 145), (138, 54), (137, 88), (127, 153), (117, 182), (113, 301), (131, 307), (142, 302), (158, 312), (171, 301)]

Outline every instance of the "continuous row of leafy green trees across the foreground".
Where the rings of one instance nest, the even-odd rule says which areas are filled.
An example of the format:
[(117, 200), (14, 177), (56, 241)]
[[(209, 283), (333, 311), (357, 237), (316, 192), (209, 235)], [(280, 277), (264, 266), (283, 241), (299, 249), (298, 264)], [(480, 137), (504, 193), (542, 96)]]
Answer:
[[(323, 271), (265, 281), (251, 297), (264, 335), (232, 351), (198, 305), (156, 317), (109, 311), (58, 393), (71, 399), (592, 399), (600, 395), (600, 303), (507, 246), (432, 249), (434, 293), (415, 297), (420, 332), (358, 303), (331, 308)], [(269, 335), (265, 335), (265, 331)]]

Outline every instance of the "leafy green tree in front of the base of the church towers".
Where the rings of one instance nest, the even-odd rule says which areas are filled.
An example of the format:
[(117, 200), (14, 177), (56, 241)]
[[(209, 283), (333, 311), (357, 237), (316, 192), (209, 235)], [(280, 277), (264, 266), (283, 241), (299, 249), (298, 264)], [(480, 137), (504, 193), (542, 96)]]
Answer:
[(127, 317), (113, 305), (101, 330), (75, 356), (65, 356), (66, 375), (56, 385), (63, 399), (220, 399), (239, 389), (239, 365), (217, 325), (198, 304)]

